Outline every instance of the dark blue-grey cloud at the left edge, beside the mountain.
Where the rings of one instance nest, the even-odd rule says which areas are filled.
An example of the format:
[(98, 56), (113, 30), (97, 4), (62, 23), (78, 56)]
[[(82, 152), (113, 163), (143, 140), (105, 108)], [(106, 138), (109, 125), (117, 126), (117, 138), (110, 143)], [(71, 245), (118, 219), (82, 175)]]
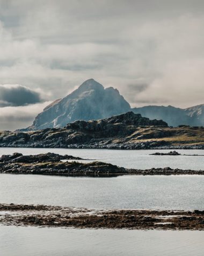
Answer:
[(25, 106), (41, 102), (39, 92), (22, 85), (0, 85), (0, 107)]

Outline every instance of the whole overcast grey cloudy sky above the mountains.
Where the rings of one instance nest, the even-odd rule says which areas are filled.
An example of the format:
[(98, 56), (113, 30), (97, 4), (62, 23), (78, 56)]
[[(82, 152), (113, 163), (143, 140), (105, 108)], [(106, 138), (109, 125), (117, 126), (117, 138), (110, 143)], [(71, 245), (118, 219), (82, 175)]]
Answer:
[(203, 0), (0, 0), (0, 129), (89, 78), (134, 107), (204, 103), (203, 27)]

